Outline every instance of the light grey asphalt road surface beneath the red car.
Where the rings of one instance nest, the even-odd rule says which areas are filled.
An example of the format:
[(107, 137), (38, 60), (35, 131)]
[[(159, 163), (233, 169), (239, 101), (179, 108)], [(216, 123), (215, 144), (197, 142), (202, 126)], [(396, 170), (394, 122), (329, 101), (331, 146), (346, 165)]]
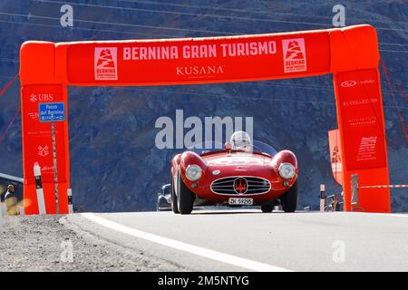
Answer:
[(408, 271), (408, 215), (259, 210), (70, 215), (81, 230), (191, 271)]

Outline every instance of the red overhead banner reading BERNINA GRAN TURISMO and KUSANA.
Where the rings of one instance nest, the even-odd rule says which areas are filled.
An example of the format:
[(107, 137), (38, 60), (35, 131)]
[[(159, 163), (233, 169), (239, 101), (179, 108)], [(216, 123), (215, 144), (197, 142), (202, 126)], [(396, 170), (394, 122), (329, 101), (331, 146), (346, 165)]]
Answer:
[(72, 84), (239, 82), (330, 67), (325, 34), (72, 43), (67, 55)]

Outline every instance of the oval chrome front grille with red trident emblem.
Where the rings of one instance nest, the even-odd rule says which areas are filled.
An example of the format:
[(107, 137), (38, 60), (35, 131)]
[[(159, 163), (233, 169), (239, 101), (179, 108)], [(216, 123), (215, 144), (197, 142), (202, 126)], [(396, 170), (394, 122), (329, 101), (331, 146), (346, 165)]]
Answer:
[[(244, 179), (246, 180), (246, 186)], [(241, 188), (236, 186), (236, 183)], [(245, 190), (242, 188), (245, 187)], [(238, 188), (238, 190), (237, 190)], [(262, 194), (269, 191), (271, 188), (270, 182), (267, 179), (261, 179), (256, 177), (236, 176), (223, 179), (217, 179), (211, 183), (211, 190), (217, 194), (225, 195), (250, 195), (250, 194)], [(241, 189), (241, 190), (239, 190)], [(240, 191), (240, 192), (239, 192)]]

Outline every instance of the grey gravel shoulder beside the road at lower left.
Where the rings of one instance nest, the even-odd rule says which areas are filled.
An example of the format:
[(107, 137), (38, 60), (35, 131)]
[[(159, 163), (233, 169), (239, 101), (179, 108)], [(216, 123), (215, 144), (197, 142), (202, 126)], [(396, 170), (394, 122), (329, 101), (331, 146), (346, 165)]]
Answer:
[(183, 271), (83, 231), (66, 216), (0, 218), (0, 272)]

